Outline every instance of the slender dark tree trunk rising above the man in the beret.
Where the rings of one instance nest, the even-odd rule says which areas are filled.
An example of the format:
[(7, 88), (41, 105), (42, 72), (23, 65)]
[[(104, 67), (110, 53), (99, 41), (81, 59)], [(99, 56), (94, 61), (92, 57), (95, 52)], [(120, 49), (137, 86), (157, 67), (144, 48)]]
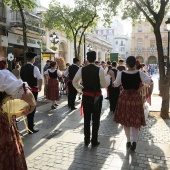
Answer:
[(20, 1), (16, 0), (16, 2), (17, 2), (17, 5), (18, 5), (19, 11), (20, 11), (20, 15), (21, 15), (21, 18), (22, 18), (22, 31), (23, 31), (23, 43), (24, 43), (24, 60), (26, 62), (25, 55), (26, 55), (26, 52), (28, 50), (28, 46), (27, 46), (27, 26), (26, 26), (26, 23), (25, 23), (25, 17), (24, 17), (24, 13), (23, 13), (23, 9), (22, 9), (22, 6), (20, 4)]

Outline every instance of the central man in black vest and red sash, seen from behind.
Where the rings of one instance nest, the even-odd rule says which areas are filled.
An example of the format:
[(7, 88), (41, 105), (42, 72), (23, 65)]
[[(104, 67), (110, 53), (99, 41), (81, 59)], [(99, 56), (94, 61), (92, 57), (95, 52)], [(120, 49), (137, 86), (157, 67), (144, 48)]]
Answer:
[[(89, 64), (82, 67), (73, 79), (73, 86), (82, 95), (82, 108), (84, 112), (84, 144), (90, 144), (90, 121), (92, 120), (92, 147), (100, 144), (98, 140), (98, 130), (100, 126), (100, 114), (103, 96), (101, 87), (105, 88), (110, 83), (110, 76), (105, 77), (104, 70), (95, 65), (96, 52), (87, 53)], [(80, 84), (82, 80), (82, 85)]]

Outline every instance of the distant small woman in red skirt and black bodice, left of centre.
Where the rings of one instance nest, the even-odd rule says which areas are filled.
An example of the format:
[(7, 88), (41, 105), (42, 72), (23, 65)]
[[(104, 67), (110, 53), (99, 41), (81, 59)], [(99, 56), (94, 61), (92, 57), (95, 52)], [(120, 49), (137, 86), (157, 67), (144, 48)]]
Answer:
[(57, 62), (51, 62), (51, 68), (44, 72), (46, 75), (47, 96), (46, 98), (52, 101), (51, 109), (56, 109), (57, 100), (59, 100), (59, 77), (62, 77), (62, 73), (57, 69)]

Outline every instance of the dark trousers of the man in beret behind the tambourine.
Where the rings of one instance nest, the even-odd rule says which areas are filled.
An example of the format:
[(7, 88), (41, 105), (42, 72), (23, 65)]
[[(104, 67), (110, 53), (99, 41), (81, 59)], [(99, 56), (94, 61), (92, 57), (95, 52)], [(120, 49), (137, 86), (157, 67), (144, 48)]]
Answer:
[[(37, 101), (37, 97), (38, 97), (38, 92), (32, 92), (35, 98), (35, 101)], [(28, 129), (33, 130), (34, 128), (34, 114), (36, 112), (36, 108), (34, 109), (33, 112), (29, 113), (27, 115), (27, 122), (28, 122)]]

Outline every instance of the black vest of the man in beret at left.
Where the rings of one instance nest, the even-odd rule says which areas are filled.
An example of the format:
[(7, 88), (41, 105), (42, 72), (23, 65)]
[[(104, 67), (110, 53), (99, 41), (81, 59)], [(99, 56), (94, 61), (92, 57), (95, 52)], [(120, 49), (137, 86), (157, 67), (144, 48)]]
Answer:
[(30, 87), (37, 86), (37, 78), (34, 77), (34, 66), (32, 64), (25, 64), (25, 66), (22, 66), (20, 76)]

